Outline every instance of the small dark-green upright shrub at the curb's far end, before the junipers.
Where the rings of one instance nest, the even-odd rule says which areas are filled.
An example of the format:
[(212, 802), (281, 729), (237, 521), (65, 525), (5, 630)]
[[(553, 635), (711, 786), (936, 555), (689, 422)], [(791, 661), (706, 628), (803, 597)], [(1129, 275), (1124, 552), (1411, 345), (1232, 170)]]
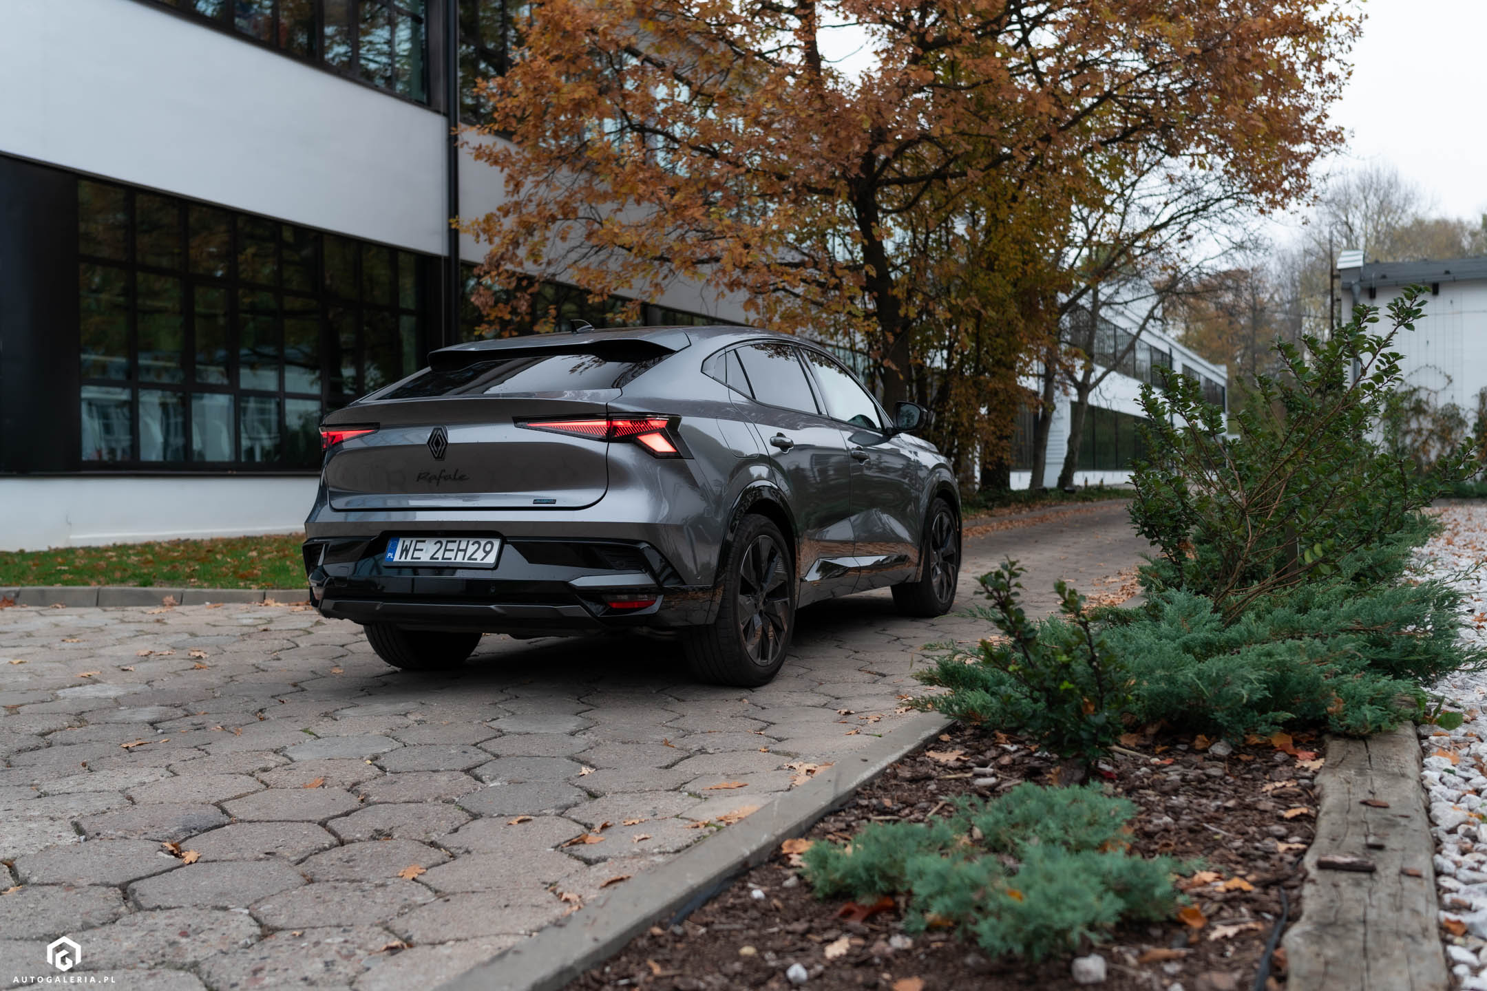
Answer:
[(938, 645), (935, 667), (919, 679), (952, 689), (932, 701), (940, 712), (1035, 737), (1059, 756), (1094, 761), (1123, 732), (1130, 673), (1096, 631), (1084, 597), (1065, 582), (1054, 585), (1062, 617), (1029, 620), (1017, 603), (1022, 574), (1010, 560), (981, 575), (992, 606), (971, 609), (1005, 639), (970, 651)]

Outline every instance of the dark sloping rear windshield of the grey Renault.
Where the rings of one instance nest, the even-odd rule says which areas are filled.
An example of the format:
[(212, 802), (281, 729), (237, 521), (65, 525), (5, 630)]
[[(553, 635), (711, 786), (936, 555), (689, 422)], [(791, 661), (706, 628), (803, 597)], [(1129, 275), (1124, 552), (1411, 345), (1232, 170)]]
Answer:
[(665, 354), (616, 352), (526, 352), (503, 354), (489, 361), (474, 361), (458, 368), (424, 368), (379, 400), (416, 400), (436, 395), (532, 395), (622, 389)]

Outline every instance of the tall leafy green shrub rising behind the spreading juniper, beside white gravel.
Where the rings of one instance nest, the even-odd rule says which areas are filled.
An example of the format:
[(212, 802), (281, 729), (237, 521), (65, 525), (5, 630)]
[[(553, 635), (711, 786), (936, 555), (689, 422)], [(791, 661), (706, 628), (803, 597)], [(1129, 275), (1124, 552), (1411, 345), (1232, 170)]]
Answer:
[(1285, 374), (1255, 379), (1255, 401), (1227, 425), (1237, 437), (1187, 376), (1167, 376), (1164, 392), (1142, 386), (1151, 453), (1132, 474), (1132, 520), (1160, 548), (1142, 572), (1149, 590), (1207, 596), (1230, 623), (1276, 590), (1329, 579), (1477, 472), (1469, 441), (1435, 456), (1430, 471), (1378, 443), (1405, 385), (1390, 348), (1414, 330), (1423, 293), (1405, 288), (1383, 333), (1370, 333), (1377, 308), (1359, 306), (1326, 340), (1277, 343)]

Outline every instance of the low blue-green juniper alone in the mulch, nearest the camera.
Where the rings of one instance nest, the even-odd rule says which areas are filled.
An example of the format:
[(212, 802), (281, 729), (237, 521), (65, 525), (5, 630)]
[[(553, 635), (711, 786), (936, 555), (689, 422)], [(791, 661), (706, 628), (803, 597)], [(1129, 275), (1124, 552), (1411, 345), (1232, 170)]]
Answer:
[(812, 844), (804, 874), (822, 897), (907, 894), (909, 932), (953, 927), (990, 954), (1038, 960), (1121, 920), (1170, 917), (1181, 865), (1126, 851), (1135, 811), (1097, 786), (1019, 784), (990, 802), (962, 798), (928, 823), (873, 823), (851, 844)]

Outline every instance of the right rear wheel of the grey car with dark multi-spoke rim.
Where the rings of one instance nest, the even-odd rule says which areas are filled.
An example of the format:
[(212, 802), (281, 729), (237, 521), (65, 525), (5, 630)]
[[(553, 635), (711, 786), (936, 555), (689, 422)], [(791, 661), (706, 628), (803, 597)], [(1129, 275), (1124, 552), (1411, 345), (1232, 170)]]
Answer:
[(763, 516), (745, 516), (723, 566), (718, 618), (683, 640), (697, 680), (757, 688), (775, 678), (796, 631), (794, 578), (794, 557), (779, 527)]

